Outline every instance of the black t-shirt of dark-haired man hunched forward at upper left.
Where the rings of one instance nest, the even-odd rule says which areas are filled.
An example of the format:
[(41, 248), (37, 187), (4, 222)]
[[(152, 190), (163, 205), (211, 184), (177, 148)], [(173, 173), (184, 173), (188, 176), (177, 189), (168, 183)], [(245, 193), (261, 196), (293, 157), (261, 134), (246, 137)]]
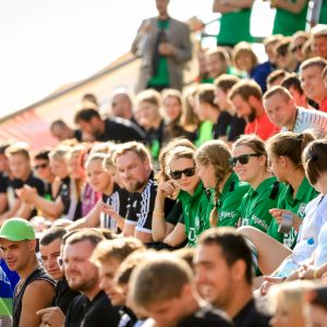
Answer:
[(97, 141), (113, 141), (124, 143), (130, 141), (143, 141), (144, 132), (133, 122), (121, 118), (105, 119), (105, 132)]

